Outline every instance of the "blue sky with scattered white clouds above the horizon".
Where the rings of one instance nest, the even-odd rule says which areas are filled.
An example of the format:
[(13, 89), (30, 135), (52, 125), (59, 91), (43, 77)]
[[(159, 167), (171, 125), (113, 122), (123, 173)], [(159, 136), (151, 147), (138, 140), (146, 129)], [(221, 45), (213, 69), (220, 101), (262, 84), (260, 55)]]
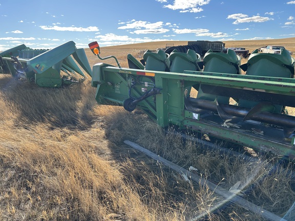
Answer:
[(0, 0), (0, 51), (295, 37), (291, 0)]

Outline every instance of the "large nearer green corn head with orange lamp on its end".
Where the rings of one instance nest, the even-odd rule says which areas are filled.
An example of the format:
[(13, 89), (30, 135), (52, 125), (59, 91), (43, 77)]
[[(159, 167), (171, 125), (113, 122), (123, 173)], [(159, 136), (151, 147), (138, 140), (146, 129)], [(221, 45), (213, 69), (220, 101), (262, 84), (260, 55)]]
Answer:
[[(106, 59), (99, 56), (97, 42), (89, 47)], [(140, 108), (163, 127), (295, 158), (295, 117), (285, 109), (295, 107), (294, 59), (287, 51), (255, 51), (243, 65), (231, 50), (209, 50), (203, 60), (191, 50), (170, 55), (146, 51), (143, 60), (128, 55), (130, 68), (95, 64), (97, 102), (119, 104), (129, 112)]]

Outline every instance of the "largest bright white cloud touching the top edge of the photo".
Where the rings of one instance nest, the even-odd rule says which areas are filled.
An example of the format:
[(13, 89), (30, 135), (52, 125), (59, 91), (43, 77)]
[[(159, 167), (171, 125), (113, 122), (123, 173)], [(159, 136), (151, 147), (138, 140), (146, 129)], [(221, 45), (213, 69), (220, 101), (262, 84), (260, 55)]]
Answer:
[[(166, 1), (158, 1), (158, 2), (166, 2)], [(180, 10), (180, 12), (193, 12), (197, 13), (203, 11), (202, 8), (198, 6), (203, 6), (209, 4), (210, 0), (174, 0), (173, 5), (164, 5), (164, 8), (172, 9), (172, 10)]]

